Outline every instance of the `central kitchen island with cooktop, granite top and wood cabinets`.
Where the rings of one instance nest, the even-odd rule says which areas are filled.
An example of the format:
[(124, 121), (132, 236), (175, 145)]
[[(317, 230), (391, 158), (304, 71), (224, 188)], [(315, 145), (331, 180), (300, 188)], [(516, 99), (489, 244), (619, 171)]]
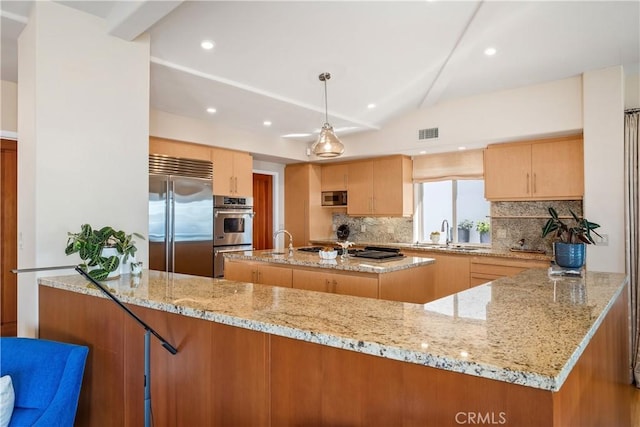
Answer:
[(322, 259), (317, 252), (305, 249), (226, 253), (224, 277), (391, 301), (425, 303), (436, 299), (433, 258), (372, 251), (373, 255), (389, 258), (375, 260), (348, 255)]

